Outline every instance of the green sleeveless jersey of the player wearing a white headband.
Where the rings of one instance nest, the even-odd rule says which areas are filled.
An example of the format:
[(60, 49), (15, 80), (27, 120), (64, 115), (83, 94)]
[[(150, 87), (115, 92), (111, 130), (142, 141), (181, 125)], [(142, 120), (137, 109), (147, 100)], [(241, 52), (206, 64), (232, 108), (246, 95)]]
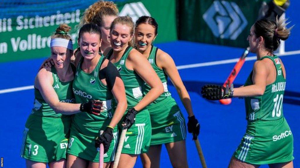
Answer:
[[(71, 65), (73, 66), (73, 65)], [(75, 70), (75, 68), (72, 67)], [(74, 95), (72, 91), (72, 82), (61, 82), (57, 76), (57, 72), (54, 66), (51, 67), (53, 77), (53, 88), (56, 92), (60, 102), (74, 103)], [(32, 114), (45, 117), (66, 117), (67, 115), (56, 113), (44, 100), (41, 92), (35, 88), (35, 102), (32, 109)]]

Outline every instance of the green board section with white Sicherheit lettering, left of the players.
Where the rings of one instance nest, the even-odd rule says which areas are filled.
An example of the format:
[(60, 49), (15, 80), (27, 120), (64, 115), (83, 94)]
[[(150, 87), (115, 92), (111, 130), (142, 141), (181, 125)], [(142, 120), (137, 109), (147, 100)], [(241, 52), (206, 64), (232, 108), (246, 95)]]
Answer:
[(77, 9), (67, 13), (55, 11), (49, 16), (1, 18), (0, 62), (49, 56), (51, 35), (55, 29), (61, 23), (67, 23), (73, 28), (70, 32), (72, 39), (76, 39), (74, 27), (80, 22), (82, 12)]

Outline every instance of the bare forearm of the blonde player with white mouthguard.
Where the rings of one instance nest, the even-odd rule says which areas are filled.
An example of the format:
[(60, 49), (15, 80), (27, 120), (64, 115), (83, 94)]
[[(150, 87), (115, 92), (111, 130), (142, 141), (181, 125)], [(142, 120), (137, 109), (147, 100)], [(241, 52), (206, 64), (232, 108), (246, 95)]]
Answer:
[(134, 109), (138, 112), (156, 100), (162, 93), (164, 93), (163, 84), (161, 87), (154, 87), (151, 88), (150, 91), (143, 97), (143, 99), (134, 106)]

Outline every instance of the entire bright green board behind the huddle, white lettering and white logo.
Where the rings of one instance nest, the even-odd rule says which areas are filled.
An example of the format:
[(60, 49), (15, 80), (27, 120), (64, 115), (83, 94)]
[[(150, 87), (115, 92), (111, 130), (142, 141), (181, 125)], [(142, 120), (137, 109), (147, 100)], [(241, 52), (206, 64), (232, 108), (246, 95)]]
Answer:
[[(143, 15), (157, 19), (159, 29), (155, 42), (177, 40), (175, 0), (128, 0), (117, 1), (116, 4), (120, 16), (131, 16), (134, 21)], [(73, 39), (73, 47), (76, 48), (78, 35), (76, 25), (79, 24), (85, 8), (70, 9), (67, 12), (60, 12), (61, 10), (57, 9), (53, 12), (48, 11), (50, 14), (47, 15), (26, 13), (19, 13), (16, 17), (0, 15), (0, 62), (49, 56), (50, 36), (61, 23), (67, 23), (72, 27), (69, 33)], [(38, 9), (32, 6), (32, 10)]]

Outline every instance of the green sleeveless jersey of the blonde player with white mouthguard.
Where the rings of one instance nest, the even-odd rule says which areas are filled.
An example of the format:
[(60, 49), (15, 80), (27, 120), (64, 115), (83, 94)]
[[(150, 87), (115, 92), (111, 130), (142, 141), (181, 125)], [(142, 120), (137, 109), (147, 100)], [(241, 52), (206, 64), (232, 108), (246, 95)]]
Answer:
[[(126, 68), (126, 59), (132, 49), (132, 47), (126, 48), (121, 59), (118, 62), (114, 63), (114, 65), (116, 65), (118, 71), (120, 72), (120, 75), (125, 85), (125, 92), (128, 104), (127, 109), (134, 107), (135, 105), (137, 105), (137, 103), (140, 102), (140, 100), (142, 100), (142, 86), (145, 83), (144, 80), (135, 71)], [(113, 49), (111, 49), (110, 52), (107, 54), (107, 58), (110, 59), (112, 54)]]

